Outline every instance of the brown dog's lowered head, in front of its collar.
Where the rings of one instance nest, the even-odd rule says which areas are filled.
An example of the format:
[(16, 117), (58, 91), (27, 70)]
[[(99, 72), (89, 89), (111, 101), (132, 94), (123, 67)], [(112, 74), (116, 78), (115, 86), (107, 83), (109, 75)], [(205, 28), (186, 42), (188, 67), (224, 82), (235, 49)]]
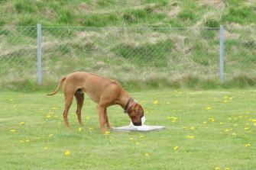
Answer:
[(141, 104), (134, 104), (134, 107), (132, 107), (128, 111), (128, 115), (131, 118), (131, 122), (134, 124), (134, 126), (141, 126), (141, 118), (144, 117), (144, 110), (141, 107)]

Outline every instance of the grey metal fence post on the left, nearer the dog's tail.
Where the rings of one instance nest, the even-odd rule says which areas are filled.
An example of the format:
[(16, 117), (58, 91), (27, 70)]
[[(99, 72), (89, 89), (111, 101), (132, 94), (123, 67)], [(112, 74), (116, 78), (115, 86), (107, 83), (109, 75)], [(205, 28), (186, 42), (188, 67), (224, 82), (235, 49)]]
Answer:
[(41, 24), (37, 24), (37, 81), (38, 85), (42, 85), (42, 30)]

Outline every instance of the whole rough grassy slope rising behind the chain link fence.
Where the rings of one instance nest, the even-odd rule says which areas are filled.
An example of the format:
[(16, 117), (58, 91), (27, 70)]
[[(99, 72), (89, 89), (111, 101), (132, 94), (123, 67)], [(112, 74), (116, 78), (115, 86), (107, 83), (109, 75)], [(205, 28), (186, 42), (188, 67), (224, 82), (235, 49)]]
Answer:
[[(83, 27), (219, 27), (225, 25), (226, 86), (254, 85), (256, 30), (251, 1), (2, 1), (2, 88), (34, 88), (36, 28), (41, 23), (43, 82), (56, 85), (78, 70), (118, 79), (128, 88), (215, 88), (219, 85), (219, 30), (58, 29)], [(24, 30), (23, 30), (24, 29)], [(86, 31), (85, 31), (86, 30)], [(149, 62), (146, 62), (149, 61)], [(15, 67), (14, 67), (15, 66)], [(144, 86), (145, 85), (145, 86)]]

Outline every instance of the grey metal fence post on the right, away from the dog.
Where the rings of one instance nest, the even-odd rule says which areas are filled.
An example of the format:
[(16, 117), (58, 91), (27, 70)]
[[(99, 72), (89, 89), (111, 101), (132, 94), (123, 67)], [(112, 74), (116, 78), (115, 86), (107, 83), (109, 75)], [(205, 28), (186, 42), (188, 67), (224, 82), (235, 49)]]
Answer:
[(224, 27), (219, 26), (219, 78), (224, 82)]

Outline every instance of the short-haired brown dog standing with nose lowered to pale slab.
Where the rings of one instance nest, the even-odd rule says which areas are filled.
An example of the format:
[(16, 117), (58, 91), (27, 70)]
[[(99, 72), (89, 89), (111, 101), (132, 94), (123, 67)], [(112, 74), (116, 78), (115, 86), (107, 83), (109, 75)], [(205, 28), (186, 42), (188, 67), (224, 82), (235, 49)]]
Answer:
[(67, 114), (73, 102), (73, 96), (76, 97), (78, 122), (80, 125), (83, 124), (81, 120), (81, 110), (84, 99), (83, 92), (86, 92), (92, 101), (98, 103), (99, 127), (103, 133), (106, 132), (104, 125), (110, 127), (107, 107), (114, 104), (119, 104), (124, 108), (125, 113), (128, 113), (131, 122), (135, 126), (141, 126), (141, 117), (144, 116), (143, 108), (134, 101), (134, 99), (128, 95), (128, 92), (115, 80), (105, 79), (89, 72), (73, 72), (61, 79), (56, 91), (53, 91), (53, 93), (49, 95), (55, 95), (61, 85), (63, 85), (63, 93), (65, 96), (63, 119), (66, 127), (69, 127)]

